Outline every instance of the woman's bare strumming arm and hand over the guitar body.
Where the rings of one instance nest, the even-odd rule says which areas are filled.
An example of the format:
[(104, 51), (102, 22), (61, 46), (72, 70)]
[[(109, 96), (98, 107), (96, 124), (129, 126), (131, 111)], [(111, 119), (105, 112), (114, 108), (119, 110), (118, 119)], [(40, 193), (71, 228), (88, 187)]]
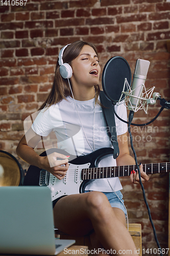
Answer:
[[(17, 155), (30, 165), (46, 169), (58, 179), (63, 179), (68, 169), (67, 157), (56, 152), (45, 157), (39, 156), (34, 151), (34, 148), (40, 140), (41, 136), (30, 128), (27, 134), (22, 137), (16, 148)], [(64, 160), (57, 160), (57, 158), (63, 158)]]

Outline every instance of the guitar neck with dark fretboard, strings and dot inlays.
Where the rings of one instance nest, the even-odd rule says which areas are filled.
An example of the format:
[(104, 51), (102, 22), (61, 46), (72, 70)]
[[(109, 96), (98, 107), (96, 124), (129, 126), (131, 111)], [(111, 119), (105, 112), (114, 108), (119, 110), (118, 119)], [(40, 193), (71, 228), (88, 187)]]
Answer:
[[(129, 176), (132, 170), (137, 170), (136, 165), (124, 165), (114, 167), (84, 168), (81, 171), (82, 180), (104, 179)], [(143, 172), (157, 174), (170, 172), (170, 163), (143, 164)]]

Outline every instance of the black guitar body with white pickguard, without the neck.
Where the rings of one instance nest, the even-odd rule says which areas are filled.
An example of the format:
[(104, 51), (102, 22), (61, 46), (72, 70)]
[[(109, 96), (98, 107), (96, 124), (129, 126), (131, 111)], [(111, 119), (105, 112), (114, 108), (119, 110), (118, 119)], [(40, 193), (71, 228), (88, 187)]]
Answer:
[[(46, 156), (58, 152), (69, 155), (67, 152), (52, 148), (43, 152), (40, 156)], [(70, 156), (69, 167), (64, 179), (59, 180), (46, 170), (31, 165), (23, 182), (24, 186), (48, 186), (51, 189), (52, 201), (65, 195), (83, 193), (86, 185), (93, 179), (82, 180), (82, 169), (98, 167), (99, 162), (106, 156), (113, 156), (113, 148), (100, 148), (86, 156)], [(46, 182), (47, 181), (47, 182)]]

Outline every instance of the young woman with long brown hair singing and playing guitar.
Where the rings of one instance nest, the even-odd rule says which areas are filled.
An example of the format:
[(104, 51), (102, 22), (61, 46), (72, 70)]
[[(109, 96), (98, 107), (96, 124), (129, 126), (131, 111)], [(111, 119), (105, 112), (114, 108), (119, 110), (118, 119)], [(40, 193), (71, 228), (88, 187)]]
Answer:
[[(23, 161), (48, 170), (59, 180), (67, 172), (68, 156), (59, 153), (46, 157), (37, 155), (34, 147), (41, 140), (41, 136), (55, 131), (58, 147), (77, 156), (89, 154), (102, 147), (112, 147), (99, 100), (101, 68), (95, 46), (76, 41), (65, 47), (60, 58), (64, 63), (69, 63), (72, 76), (70, 75), (70, 79), (63, 78), (60, 74), (62, 61), (60, 60), (60, 65), (57, 62), (51, 93), (16, 150)], [(116, 112), (123, 119), (127, 118), (123, 104), (116, 106)], [(102, 159), (100, 166), (135, 164), (128, 150), (127, 125), (116, 117), (115, 122), (119, 156), (116, 160), (110, 156)], [(142, 171), (142, 165), (140, 171), (142, 182), (149, 180), (149, 176)], [(130, 175), (130, 179), (135, 184), (139, 182), (136, 172)], [(117, 255), (122, 254), (122, 250), (131, 250), (130, 254), (136, 255), (134, 242), (126, 228), (127, 212), (120, 189), (122, 186), (118, 178), (100, 179), (88, 184), (86, 193), (68, 195), (56, 200), (55, 226), (73, 235), (91, 233), (92, 246), (109, 250), (110, 254), (113, 253), (112, 250), (116, 250)], [(128, 255), (128, 251), (125, 255)]]

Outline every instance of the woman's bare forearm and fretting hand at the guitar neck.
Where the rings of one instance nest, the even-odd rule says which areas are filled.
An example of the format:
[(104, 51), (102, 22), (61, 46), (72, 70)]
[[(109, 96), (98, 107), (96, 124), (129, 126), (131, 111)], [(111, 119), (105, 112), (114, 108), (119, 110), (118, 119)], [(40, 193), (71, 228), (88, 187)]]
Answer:
[[(116, 158), (117, 166), (133, 164), (136, 165), (134, 158), (131, 157), (129, 153), (127, 133), (117, 136), (117, 141), (119, 146), (119, 156)], [(142, 183), (148, 181), (150, 176), (143, 172), (142, 164), (140, 164), (139, 169)], [(138, 172), (136, 173), (134, 170), (134, 172), (130, 175), (130, 180), (134, 184), (139, 184)]]

